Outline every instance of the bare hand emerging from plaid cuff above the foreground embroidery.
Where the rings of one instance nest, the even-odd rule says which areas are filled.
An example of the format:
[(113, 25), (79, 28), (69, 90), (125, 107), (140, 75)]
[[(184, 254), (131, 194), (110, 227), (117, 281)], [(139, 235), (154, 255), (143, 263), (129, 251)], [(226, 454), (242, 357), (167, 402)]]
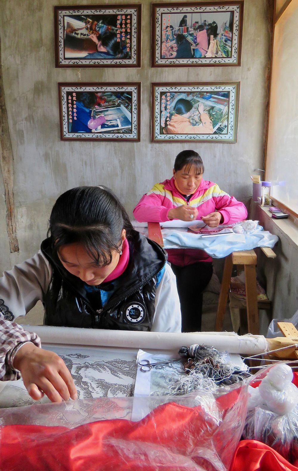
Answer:
[(45, 394), (52, 402), (78, 397), (72, 375), (56, 353), (40, 349), (32, 342), (16, 352), (14, 366), (20, 370), (24, 385), (32, 397), (39, 400)]

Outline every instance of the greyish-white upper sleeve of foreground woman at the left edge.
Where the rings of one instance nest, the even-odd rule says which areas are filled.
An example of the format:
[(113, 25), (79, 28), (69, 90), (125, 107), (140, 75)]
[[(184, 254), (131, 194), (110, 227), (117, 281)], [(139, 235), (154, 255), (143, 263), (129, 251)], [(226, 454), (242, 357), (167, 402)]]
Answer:
[(12, 321), (43, 300), (52, 278), (52, 267), (41, 252), (3, 272), (0, 278), (0, 312)]

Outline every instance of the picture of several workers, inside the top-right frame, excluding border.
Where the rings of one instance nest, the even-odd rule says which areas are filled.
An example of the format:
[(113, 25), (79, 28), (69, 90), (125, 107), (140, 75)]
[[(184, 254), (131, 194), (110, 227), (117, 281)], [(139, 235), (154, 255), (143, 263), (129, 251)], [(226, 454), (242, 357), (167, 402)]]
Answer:
[(162, 58), (231, 57), (233, 11), (164, 13)]

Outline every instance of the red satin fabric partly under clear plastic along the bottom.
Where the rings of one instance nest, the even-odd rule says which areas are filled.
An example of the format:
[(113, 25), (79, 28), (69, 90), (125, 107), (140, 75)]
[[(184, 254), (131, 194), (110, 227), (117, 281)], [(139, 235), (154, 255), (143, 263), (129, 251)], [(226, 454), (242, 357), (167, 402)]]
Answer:
[[(298, 374), (295, 374), (298, 384)], [(203, 409), (158, 406), (139, 422), (105, 420), (74, 429), (41, 425), (0, 427), (1, 471), (214, 471), (204, 455), (231, 459), (243, 420), (242, 388), (217, 398), (219, 426)], [(236, 417), (236, 422), (235, 422)], [(238, 427), (238, 428), (237, 428)], [(238, 437), (238, 438), (237, 438)], [(203, 452), (202, 452), (203, 450)], [(207, 450), (207, 451), (206, 451)], [(195, 464), (196, 463), (196, 464)], [(218, 467), (217, 467), (218, 469)], [(230, 471), (298, 471), (256, 440), (238, 444)]]

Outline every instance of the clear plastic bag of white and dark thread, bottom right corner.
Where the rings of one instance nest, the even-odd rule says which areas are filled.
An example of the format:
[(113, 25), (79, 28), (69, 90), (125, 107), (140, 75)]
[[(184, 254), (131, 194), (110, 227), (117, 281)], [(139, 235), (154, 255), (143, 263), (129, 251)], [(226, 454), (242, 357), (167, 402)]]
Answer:
[[(273, 371), (272, 368), (267, 371)], [(295, 375), (297, 381), (298, 374)], [(266, 388), (263, 388), (261, 394), (258, 395), (256, 388), (256, 393), (251, 396), (248, 403), (248, 413), (242, 437), (265, 443), (290, 463), (297, 466), (298, 405), (294, 406), (294, 404), (297, 404), (298, 390), (294, 384), (290, 384), (292, 388), (286, 387), (286, 382), (283, 382), (283, 384), (285, 386), (284, 389), (282, 389), (281, 382), (280, 390), (276, 391), (276, 397), (274, 398), (280, 400), (279, 406), (277, 400), (273, 400), (272, 391), (268, 390), (266, 394)], [(282, 410), (282, 404), (287, 413), (280, 415), (276, 411)], [(254, 405), (256, 406), (254, 407)], [(268, 405), (275, 412), (269, 410)]]

